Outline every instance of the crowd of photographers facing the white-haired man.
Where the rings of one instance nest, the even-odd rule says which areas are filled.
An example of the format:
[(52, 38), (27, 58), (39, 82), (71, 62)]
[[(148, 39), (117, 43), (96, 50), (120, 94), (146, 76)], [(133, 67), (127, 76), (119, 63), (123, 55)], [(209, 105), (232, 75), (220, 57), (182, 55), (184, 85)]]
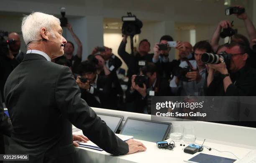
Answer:
[[(95, 47), (87, 59), (82, 59), (82, 43), (74, 33), (72, 25), (67, 29), (77, 44), (67, 41), (64, 56), (52, 62), (68, 66), (81, 90), (81, 97), (91, 107), (100, 107), (129, 112), (150, 114), (152, 96), (253, 96), (256, 93), (256, 30), (246, 13), (236, 15), (244, 21), (249, 40), (241, 34), (234, 34), (229, 43), (219, 45), (222, 29), (232, 27), (228, 20), (222, 20), (210, 41), (198, 41), (195, 46), (189, 42), (177, 41), (175, 49), (179, 59), (169, 61), (172, 36), (165, 35), (154, 43), (154, 53), (149, 53), (151, 43), (142, 39), (134, 55), (125, 51), (127, 37), (123, 36), (118, 55), (128, 66), (128, 82), (120, 79), (123, 73), (122, 61), (109, 47)], [(1, 93), (10, 72), (23, 60), (20, 36), (10, 33), (8, 39), (15, 40), (9, 46), (9, 53), (1, 56)], [(167, 50), (160, 50), (159, 44), (167, 44)], [(103, 49), (102, 49), (103, 48)], [(229, 64), (221, 59), (219, 64), (205, 64), (203, 53), (231, 54)], [(226, 61), (227, 62), (227, 61)], [(123, 73), (124, 74), (124, 73)], [(122, 85), (127, 85), (123, 89)]]

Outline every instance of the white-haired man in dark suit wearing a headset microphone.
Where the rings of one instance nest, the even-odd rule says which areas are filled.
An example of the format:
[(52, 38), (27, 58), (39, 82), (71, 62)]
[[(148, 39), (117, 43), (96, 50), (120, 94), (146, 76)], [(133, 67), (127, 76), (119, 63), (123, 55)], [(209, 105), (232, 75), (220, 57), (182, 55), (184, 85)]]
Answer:
[(138, 141), (116, 137), (81, 99), (71, 70), (51, 62), (63, 55), (67, 43), (58, 18), (32, 13), (23, 18), (21, 30), (28, 51), (4, 90), (13, 124), (9, 154), (29, 154), (31, 163), (73, 163), (73, 140), (88, 139), (72, 138), (72, 124), (108, 153), (146, 150)]

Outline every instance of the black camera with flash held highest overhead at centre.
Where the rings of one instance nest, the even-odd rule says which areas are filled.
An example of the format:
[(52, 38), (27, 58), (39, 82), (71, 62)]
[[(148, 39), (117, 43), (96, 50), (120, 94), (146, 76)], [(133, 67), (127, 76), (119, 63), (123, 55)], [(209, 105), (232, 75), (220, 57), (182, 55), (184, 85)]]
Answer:
[(141, 20), (137, 19), (135, 15), (127, 13), (128, 16), (123, 16), (123, 26), (122, 33), (127, 36), (134, 36), (141, 33), (141, 28), (143, 26)]

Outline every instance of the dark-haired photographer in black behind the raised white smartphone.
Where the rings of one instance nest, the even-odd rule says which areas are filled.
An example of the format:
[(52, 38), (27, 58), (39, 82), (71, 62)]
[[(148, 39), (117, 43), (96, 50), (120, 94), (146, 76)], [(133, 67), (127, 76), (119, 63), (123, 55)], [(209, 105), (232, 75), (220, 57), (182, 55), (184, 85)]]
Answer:
[[(173, 41), (173, 38), (169, 35), (162, 36), (160, 42), (156, 43), (154, 46), (154, 56), (153, 63), (156, 64), (158, 69), (158, 74), (161, 77), (169, 79), (171, 77), (171, 72), (174, 66), (174, 62), (169, 62), (169, 52), (171, 47), (169, 47), (168, 41)], [(159, 49), (159, 44), (167, 45), (167, 50)], [(177, 65), (179, 66), (179, 65)]]

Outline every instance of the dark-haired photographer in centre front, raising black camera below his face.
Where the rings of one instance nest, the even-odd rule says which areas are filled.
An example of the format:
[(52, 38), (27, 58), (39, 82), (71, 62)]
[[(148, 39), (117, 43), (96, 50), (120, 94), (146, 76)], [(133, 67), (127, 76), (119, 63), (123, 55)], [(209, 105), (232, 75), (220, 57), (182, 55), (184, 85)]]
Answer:
[(157, 74), (154, 63), (148, 62), (143, 66), (140, 76), (133, 75), (126, 91), (126, 102), (131, 108), (129, 112), (148, 114), (151, 110), (151, 96), (170, 96), (171, 90), (166, 79)]

